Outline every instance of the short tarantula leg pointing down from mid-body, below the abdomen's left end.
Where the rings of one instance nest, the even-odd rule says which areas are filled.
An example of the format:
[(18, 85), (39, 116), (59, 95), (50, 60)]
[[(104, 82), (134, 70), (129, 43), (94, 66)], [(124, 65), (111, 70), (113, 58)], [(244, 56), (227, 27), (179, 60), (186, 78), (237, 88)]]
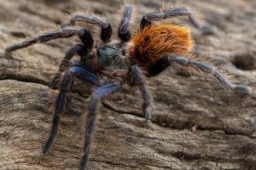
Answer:
[(146, 120), (151, 119), (150, 114), (150, 105), (151, 105), (151, 96), (150, 90), (146, 86), (146, 82), (142, 75), (141, 69), (139, 69), (138, 65), (132, 65), (130, 68), (130, 81), (132, 85), (139, 85), (142, 93), (143, 104), (142, 111)]

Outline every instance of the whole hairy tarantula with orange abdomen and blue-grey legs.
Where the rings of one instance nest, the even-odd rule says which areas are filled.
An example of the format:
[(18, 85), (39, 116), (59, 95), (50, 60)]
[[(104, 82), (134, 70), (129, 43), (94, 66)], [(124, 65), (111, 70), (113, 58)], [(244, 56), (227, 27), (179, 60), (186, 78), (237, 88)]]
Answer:
[[(57, 38), (77, 36), (82, 44), (74, 45), (66, 52), (58, 73), (53, 77), (52, 88), (59, 87), (59, 94), (54, 106), (54, 118), (50, 136), (42, 148), (42, 152), (49, 151), (58, 131), (60, 115), (66, 112), (70, 103), (70, 92), (74, 77), (78, 77), (87, 85), (95, 86), (90, 96), (89, 114), (86, 117), (84, 154), (79, 169), (86, 168), (89, 160), (92, 136), (94, 134), (98, 105), (102, 98), (110, 93), (117, 92), (121, 85), (137, 85), (142, 93), (142, 111), (147, 120), (150, 120), (150, 91), (146, 86), (145, 78), (154, 77), (167, 67), (175, 66), (189, 73), (203, 73), (217, 78), (219, 83), (227, 89), (234, 89), (234, 85), (222, 76), (209, 62), (205, 63), (200, 57), (194, 57), (193, 39), (190, 30), (184, 26), (174, 24), (154, 26), (153, 22), (187, 16), (196, 28), (210, 32), (210, 26), (202, 26), (186, 7), (170, 10), (155, 10), (145, 14), (140, 22), (140, 30), (132, 35), (128, 29), (133, 7), (127, 4), (124, 7), (121, 22), (118, 26), (118, 37), (121, 42), (109, 43), (112, 27), (98, 15), (75, 14), (66, 25), (59, 29), (38, 34), (25, 42), (12, 45), (6, 52), (22, 49), (38, 42), (49, 42)], [(74, 27), (77, 22), (86, 22), (101, 28), (102, 45), (95, 47), (94, 38), (89, 30)], [(70, 61), (75, 54), (80, 60)], [(59, 85), (59, 86), (58, 86)]]

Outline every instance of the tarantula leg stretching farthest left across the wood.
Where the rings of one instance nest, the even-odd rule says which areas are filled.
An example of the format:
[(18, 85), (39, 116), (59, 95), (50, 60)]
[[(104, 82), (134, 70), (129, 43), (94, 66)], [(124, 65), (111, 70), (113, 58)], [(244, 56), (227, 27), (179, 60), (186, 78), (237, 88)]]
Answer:
[(63, 29), (50, 30), (49, 32), (38, 34), (38, 36), (36, 36), (35, 38), (27, 39), (25, 42), (12, 45), (6, 48), (6, 53), (10, 53), (17, 49), (26, 48), (38, 42), (44, 43), (57, 38), (70, 38), (74, 36), (78, 36), (85, 45), (88, 45), (89, 43), (91, 44), (90, 46), (93, 45), (93, 42), (91, 43), (90, 41), (87, 40), (87, 38), (91, 37), (90, 33), (87, 30), (76, 29), (76, 28), (63, 28)]

